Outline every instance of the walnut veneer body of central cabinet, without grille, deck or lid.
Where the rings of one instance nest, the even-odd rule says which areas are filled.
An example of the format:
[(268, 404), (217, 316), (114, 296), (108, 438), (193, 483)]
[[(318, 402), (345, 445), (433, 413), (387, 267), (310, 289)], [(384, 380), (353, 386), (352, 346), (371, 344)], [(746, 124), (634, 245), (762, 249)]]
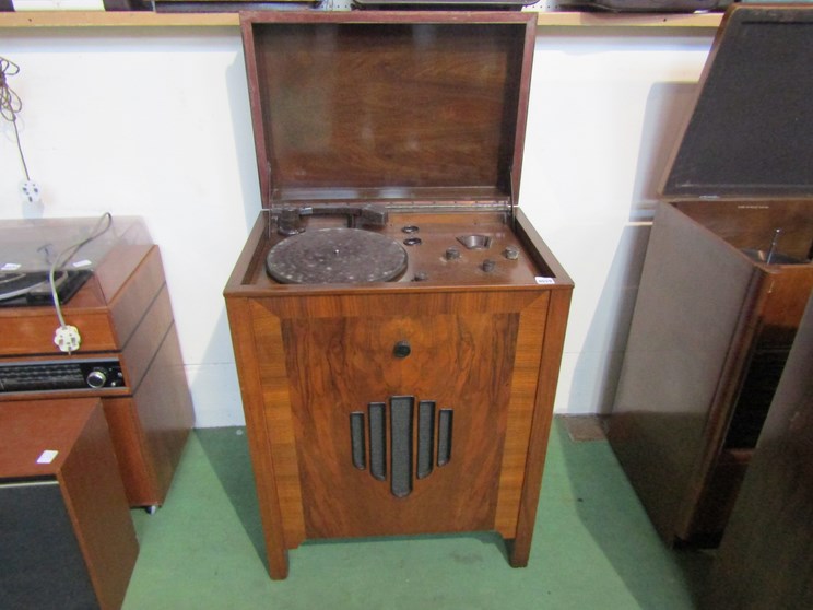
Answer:
[[(263, 271), (247, 253), (262, 250), (266, 235), (252, 235), (226, 303), (271, 576), (286, 576), (287, 550), (306, 539), (396, 533), (496, 530), (512, 542), (511, 564), (526, 565), (569, 308), (566, 275), (550, 288), (260, 290)], [(392, 353), (400, 340), (412, 348), (402, 360)], [(455, 423), (450, 464), (400, 498), (353, 467), (350, 413), (403, 395), (453, 409)]]

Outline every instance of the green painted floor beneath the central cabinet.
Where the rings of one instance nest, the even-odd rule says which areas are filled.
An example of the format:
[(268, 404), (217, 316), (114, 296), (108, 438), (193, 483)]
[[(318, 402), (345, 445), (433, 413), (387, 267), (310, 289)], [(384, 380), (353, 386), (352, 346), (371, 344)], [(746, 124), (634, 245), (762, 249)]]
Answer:
[(696, 607), (708, 555), (667, 549), (605, 441), (556, 420), (531, 561), (493, 533), (306, 542), (269, 579), (245, 430), (190, 436), (166, 504), (133, 511), (125, 609), (657, 609)]

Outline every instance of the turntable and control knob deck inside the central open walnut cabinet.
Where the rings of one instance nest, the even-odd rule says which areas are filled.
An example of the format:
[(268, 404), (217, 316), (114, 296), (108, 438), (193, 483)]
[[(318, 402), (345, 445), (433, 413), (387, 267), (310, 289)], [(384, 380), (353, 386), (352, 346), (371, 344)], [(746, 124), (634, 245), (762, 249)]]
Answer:
[(550, 269), (523, 251), (507, 213), (397, 213), (377, 228), (321, 221), (294, 236), (269, 242), (266, 271), (283, 284), (534, 285), (554, 281)]

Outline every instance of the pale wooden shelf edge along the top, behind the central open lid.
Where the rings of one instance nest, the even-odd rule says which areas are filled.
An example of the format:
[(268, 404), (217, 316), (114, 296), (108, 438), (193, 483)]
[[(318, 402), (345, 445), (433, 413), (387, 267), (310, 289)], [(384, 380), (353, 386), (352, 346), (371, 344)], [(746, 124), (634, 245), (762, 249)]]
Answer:
[[(540, 27), (710, 27), (721, 13), (577, 13), (539, 12)], [(213, 27), (237, 26), (237, 13), (153, 13), (150, 11), (28, 11), (0, 13), (4, 27)]]

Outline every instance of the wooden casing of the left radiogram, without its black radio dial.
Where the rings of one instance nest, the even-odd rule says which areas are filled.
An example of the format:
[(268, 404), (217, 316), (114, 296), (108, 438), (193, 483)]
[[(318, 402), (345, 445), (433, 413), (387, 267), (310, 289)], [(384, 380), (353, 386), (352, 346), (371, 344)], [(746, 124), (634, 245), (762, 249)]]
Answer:
[(101, 397), (130, 505), (163, 504), (195, 414), (158, 247), (111, 248), (63, 306), (63, 315), (82, 336), (73, 354), (54, 345), (58, 321), (52, 307), (0, 308), (0, 332), (9, 338), (0, 345), (0, 363), (114, 357), (127, 386), (7, 392), (0, 404)]

